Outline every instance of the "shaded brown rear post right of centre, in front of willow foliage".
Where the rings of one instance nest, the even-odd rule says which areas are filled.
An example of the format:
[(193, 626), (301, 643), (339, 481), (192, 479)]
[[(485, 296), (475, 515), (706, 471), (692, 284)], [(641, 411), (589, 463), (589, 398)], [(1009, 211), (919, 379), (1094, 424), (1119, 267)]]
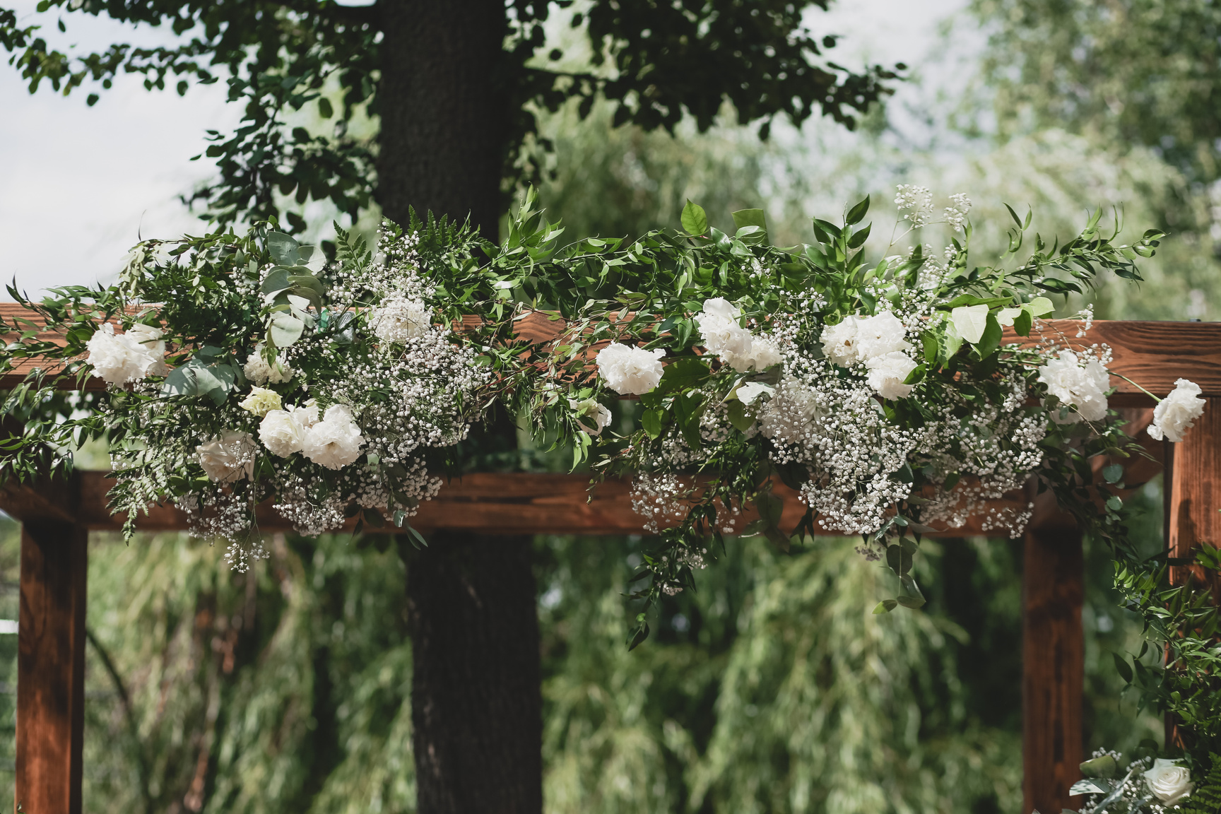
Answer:
[[(1071, 521), (1070, 521), (1071, 522)], [(1026, 533), (1022, 577), (1022, 812), (1076, 808), (1085, 682), (1081, 532), (1048, 524)]]

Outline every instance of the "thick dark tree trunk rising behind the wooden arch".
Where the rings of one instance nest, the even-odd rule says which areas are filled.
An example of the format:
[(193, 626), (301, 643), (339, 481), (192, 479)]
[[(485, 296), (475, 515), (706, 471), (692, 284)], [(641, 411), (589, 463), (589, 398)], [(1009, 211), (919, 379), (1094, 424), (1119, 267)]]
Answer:
[[(496, 240), (505, 104), (503, 0), (380, 0), (379, 200), (465, 218)], [(515, 444), (508, 422), (477, 452)], [(542, 710), (529, 537), (438, 533), (408, 558), (420, 814), (538, 814)]]

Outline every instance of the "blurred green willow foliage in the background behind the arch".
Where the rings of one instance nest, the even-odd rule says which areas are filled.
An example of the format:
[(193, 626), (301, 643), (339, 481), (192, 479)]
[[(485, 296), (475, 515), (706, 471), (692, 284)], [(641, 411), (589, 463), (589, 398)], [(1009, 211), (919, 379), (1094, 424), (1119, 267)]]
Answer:
[[(910, 90), (851, 134), (816, 121), (761, 143), (726, 111), (705, 134), (669, 137), (612, 129), (609, 110), (584, 122), (562, 110), (545, 128), (556, 151), (541, 198), (573, 236), (676, 226), (687, 198), (718, 226), (763, 206), (786, 245), (808, 239), (811, 215), (872, 194), (879, 254), (896, 183), (966, 192), (982, 253), (1004, 248), (1002, 203), (1033, 206), (1044, 237), (1115, 207), (1127, 233), (1170, 237), (1145, 284), (1104, 281), (1088, 298), (1096, 315), (1215, 319), (1221, 11), (976, 0), (940, 31)], [(321, 234), (328, 216), (315, 215)], [(940, 251), (947, 236), (927, 232)], [(1158, 546), (1159, 483), (1139, 499), (1137, 533)], [(95, 535), (85, 810), (414, 810), (399, 544), (276, 536), (271, 559), (239, 575), (186, 536)], [(850, 541), (784, 555), (731, 539), (630, 653), (625, 580), (642, 541), (535, 546), (549, 813), (1018, 810), (1020, 542), (927, 543), (929, 604), (873, 616), (893, 577)], [(16, 527), (0, 524), (4, 619), (17, 614), (17, 550)], [(1136, 649), (1138, 630), (1110, 585), (1106, 552), (1087, 542), (1087, 749), (1160, 740), (1160, 721), (1120, 694), (1110, 654)], [(7, 793), (15, 652), (0, 635)]]

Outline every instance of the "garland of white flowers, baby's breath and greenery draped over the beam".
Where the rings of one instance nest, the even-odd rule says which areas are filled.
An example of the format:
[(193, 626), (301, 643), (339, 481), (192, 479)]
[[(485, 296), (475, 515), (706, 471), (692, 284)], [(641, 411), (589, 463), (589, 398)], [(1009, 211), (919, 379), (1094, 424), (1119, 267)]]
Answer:
[[(1100, 270), (1139, 279), (1136, 260), (1161, 234), (1116, 245), (1095, 214), (1063, 245), (1035, 234), (1020, 260), (1031, 215), (1010, 210), (1009, 250), (979, 265), (969, 201), (952, 196), (938, 218), (932, 200), (900, 187), (904, 220), (875, 262), (863, 248), (868, 199), (842, 225), (814, 218), (814, 243), (790, 249), (768, 243), (761, 210), (735, 212), (728, 234), (691, 203), (681, 232), (560, 245), (532, 192), (501, 245), (414, 215), (405, 228), (385, 223), (376, 253), (338, 228), (330, 254), (267, 225), (147, 240), (115, 286), (38, 303), (10, 288), (63, 342), (2, 326), (20, 338), (0, 364), (35, 365), (2, 408), (26, 427), (6, 442), (4, 476), (66, 469), (71, 449), (104, 438), (128, 533), (147, 505), (172, 500), (243, 567), (263, 554), (255, 506), (267, 498), (302, 533), (357, 516), (419, 537), (410, 516), (499, 403), (569, 445), (574, 465), (597, 452), (597, 476), (634, 478), (658, 539), (637, 575), (646, 604), (691, 586), (725, 535), (788, 547), (774, 476), (806, 506), (792, 533), (858, 535), (861, 554), (894, 570), (896, 596), (875, 613), (918, 608), (922, 535), (969, 516), (1020, 535), (1031, 506), (995, 502), (1033, 477), (1111, 544), (1129, 603), (1155, 615), (1140, 580), (1160, 577), (1127, 539), (1122, 469), (1095, 482), (1089, 465), (1134, 448), (1107, 404), (1110, 351), (1073, 350), (1042, 317), (1051, 295)], [(955, 233), (941, 253), (891, 253), (934, 222)], [(519, 337), (519, 320), (540, 314), (553, 340)], [(1006, 327), (1031, 339), (1006, 344)], [(89, 376), (105, 392), (56, 393), (57, 380)], [(1150, 434), (1179, 441), (1199, 392), (1181, 380)], [(621, 397), (640, 402), (626, 434), (608, 431)], [(759, 519), (739, 527), (751, 504)], [(631, 644), (647, 635), (641, 611)], [(1193, 664), (1198, 683), (1209, 665)]]

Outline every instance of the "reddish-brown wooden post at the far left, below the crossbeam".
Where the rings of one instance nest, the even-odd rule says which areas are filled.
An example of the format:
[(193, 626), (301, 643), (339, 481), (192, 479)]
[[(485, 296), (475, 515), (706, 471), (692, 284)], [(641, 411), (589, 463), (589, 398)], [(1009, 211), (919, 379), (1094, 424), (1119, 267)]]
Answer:
[(22, 525), (15, 803), (29, 814), (81, 813), (87, 543), (63, 519)]

